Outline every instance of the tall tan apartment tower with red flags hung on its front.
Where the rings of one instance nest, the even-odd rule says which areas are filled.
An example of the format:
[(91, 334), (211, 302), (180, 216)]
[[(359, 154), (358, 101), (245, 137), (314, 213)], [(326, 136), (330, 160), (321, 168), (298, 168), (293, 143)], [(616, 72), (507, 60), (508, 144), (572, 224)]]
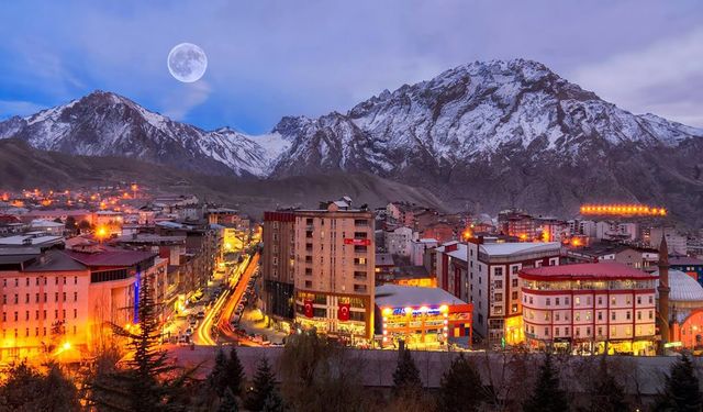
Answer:
[(323, 333), (371, 338), (373, 215), (349, 203), (295, 211), (295, 321)]

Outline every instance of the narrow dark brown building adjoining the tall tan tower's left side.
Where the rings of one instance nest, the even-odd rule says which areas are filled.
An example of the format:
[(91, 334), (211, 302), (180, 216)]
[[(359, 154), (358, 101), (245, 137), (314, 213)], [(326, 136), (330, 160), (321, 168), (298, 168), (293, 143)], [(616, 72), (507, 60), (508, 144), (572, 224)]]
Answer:
[(264, 213), (264, 311), (280, 321), (292, 321), (295, 263), (295, 214), (292, 211)]

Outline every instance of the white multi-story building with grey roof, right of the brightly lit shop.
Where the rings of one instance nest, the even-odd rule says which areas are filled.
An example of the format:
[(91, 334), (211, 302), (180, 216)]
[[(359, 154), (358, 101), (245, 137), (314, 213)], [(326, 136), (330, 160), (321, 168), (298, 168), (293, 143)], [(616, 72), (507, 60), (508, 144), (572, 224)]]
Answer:
[(517, 274), (524, 268), (559, 265), (561, 247), (556, 242), (490, 242), (479, 237), (467, 243), (464, 287), (468, 302), (473, 303), (473, 331), (489, 345), (518, 343), (523, 327)]

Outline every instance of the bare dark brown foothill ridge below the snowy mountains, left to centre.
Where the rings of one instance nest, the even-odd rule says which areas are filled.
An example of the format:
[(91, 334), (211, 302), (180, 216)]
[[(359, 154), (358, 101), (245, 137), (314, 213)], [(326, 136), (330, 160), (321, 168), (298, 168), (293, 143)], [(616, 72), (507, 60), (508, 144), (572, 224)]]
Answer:
[(207, 176), (123, 157), (75, 156), (30, 147), (15, 138), (0, 141), (0, 190), (75, 189), (109, 182), (138, 181), (156, 191), (194, 193), (209, 201), (238, 205), (252, 215), (277, 207), (316, 207), (321, 199), (350, 196), (356, 203), (386, 205), (391, 200), (443, 210), (429, 191), (364, 174), (327, 174), (256, 181), (235, 176)]

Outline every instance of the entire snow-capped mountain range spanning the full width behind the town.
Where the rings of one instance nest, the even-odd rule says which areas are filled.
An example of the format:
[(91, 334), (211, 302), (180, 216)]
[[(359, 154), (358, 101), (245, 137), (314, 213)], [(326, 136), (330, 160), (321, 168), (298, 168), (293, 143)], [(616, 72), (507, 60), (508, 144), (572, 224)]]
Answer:
[(703, 130), (629, 113), (523, 59), (459, 66), (346, 113), (287, 116), (263, 136), (205, 132), (108, 92), (0, 122), (0, 138), (12, 136), (204, 174), (368, 172), (429, 189), (454, 209), (566, 214), (583, 201), (639, 201), (699, 216), (703, 208)]

